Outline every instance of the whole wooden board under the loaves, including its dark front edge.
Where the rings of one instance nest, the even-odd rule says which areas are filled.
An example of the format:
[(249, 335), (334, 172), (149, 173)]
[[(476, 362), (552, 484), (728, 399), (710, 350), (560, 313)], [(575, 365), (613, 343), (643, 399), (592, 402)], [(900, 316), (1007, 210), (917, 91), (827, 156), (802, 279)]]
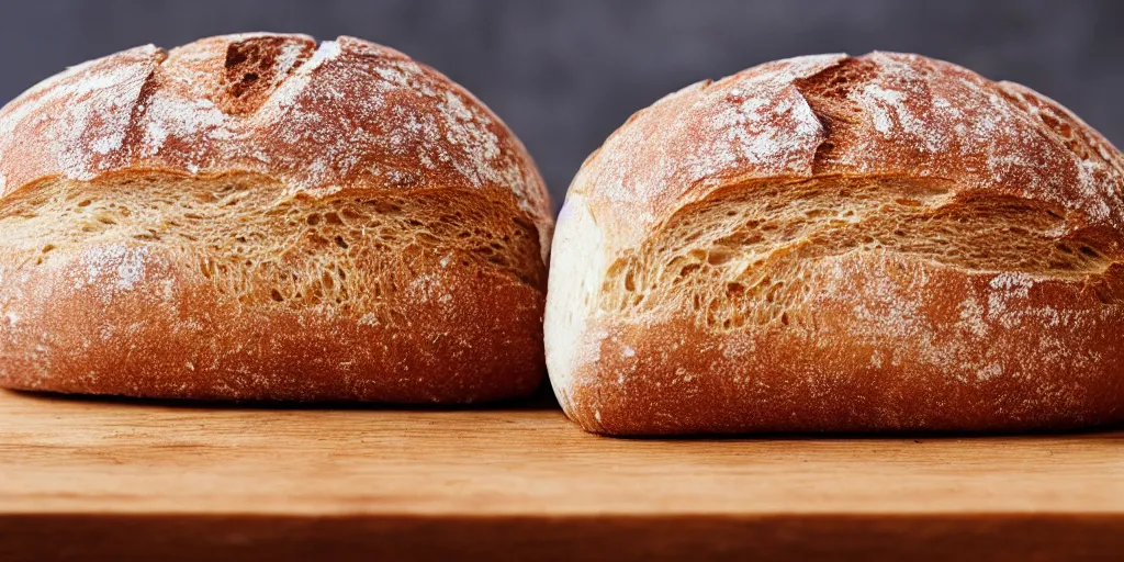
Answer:
[(1124, 432), (615, 439), (507, 408), (0, 391), (0, 560), (1124, 556)]

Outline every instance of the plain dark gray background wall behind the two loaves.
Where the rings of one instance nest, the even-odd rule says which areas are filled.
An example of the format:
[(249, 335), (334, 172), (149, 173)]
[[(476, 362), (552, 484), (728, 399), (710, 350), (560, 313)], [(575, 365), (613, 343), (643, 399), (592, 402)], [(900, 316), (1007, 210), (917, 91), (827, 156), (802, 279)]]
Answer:
[(0, 99), (130, 46), (246, 30), (354, 35), (464, 84), (537, 161), (555, 205), (633, 111), (705, 78), (812, 53), (916, 52), (1050, 96), (1124, 145), (1124, 2), (170, 0), (7, 2)]

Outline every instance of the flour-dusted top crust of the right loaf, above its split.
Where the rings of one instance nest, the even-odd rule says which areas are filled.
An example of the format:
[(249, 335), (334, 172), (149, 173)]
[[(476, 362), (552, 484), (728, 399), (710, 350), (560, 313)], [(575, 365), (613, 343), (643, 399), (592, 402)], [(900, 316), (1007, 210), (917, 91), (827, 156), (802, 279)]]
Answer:
[(804, 56), (704, 81), (643, 109), (571, 185), (616, 247), (676, 210), (759, 179), (948, 180), (1124, 232), (1124, 158), (1066, 108), (954, 64), (874, 52)]

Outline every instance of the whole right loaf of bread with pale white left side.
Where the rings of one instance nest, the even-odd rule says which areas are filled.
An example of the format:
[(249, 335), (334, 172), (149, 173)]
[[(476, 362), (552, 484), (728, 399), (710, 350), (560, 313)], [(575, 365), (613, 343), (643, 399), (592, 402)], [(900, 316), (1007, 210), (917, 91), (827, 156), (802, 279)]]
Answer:
[(545, 338), (605, 434), (1124, 418), (1124, 158), (917, 55), (779, 61), (634, 115), (558, 219)]

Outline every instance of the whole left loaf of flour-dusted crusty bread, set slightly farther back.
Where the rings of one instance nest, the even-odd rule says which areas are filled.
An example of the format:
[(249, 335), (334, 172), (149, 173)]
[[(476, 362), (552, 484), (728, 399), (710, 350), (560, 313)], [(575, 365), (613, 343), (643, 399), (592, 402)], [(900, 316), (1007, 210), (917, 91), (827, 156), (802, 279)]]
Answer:
[(134, 48), (0, 111), (0, 384), (527, 395), (552, 227), (511, 132), (393, 49), (269, 34)]

